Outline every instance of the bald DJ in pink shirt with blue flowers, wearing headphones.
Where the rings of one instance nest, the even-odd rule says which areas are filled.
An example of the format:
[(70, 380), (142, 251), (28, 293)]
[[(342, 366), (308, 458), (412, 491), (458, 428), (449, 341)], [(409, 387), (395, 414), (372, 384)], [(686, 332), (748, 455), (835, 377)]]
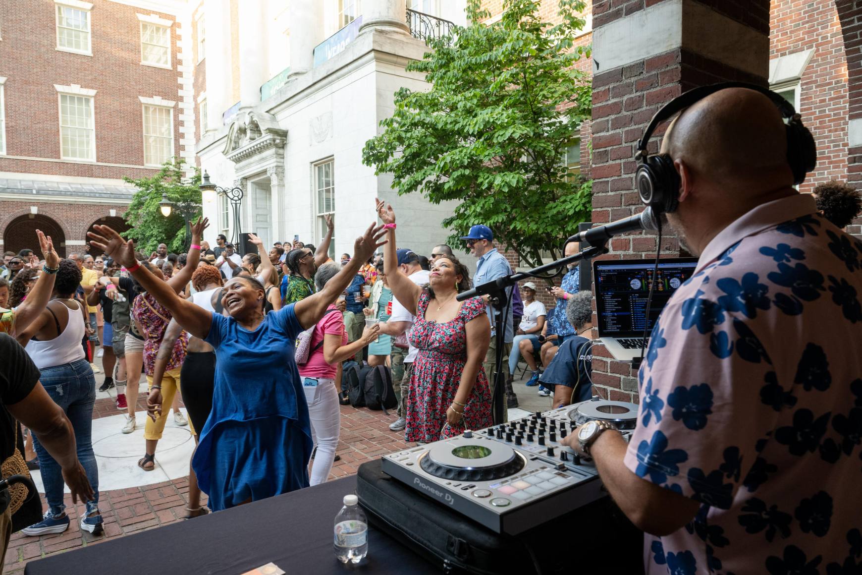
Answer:
[(653, 328), (628, 444), (604, 422), (564, 442), (647, 532), (648, 573), (858, 570), (862, 242), (794, 188), (811, 134), (777, 94), (716, 84), (638, 147), (641, 200), (696, 273)]

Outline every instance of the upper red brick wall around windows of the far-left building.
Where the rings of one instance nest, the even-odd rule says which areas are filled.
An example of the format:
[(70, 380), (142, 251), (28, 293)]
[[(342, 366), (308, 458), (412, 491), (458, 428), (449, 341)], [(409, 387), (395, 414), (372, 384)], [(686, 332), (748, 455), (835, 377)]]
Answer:
[[(59, 52), (55, 4), (49, 0), (0, 0), (3, 41), (0, 76), (8, 79), (6, 153), (59, 159), (59, 105), (53, 84), (79, 84), (96, 90), (97, 163), (46, 162), (0, 158), (0, 172), (47, 173), (92, 178), (143, 177), (143, 119), (139, 96), (178, 101), (177, 26), (172, 26), (172, 70), (141, 66), (141, 22), (150, 14), (121, 3), (96, 2), (91, 9), (92, 56)], [(159, 15), (168, 20), (175, 18)], [(179, 154), (179, 107), (174, 107), (174, 146)]]

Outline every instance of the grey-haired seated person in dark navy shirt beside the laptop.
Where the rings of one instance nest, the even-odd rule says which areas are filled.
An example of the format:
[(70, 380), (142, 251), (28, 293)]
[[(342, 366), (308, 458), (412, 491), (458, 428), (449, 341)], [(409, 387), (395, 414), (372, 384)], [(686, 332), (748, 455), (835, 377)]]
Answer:
[(592, 292), (578, 291), (569, 297), (565, 314), (578, 334), (559, 345), (539, 378), (540, 384), (553, 391), (553, 408), (592, 396), (592, 341), (581, 335), (592, 329)]

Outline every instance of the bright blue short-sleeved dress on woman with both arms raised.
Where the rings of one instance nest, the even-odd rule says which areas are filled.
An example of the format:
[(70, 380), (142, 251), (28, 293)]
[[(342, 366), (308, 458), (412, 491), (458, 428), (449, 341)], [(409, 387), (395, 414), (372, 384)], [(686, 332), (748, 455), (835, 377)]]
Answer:
[(294, 362), (293, 304), (254, 331), (213, 314), (213, 409), (191, 461), (214, 511), (309, 486), (309, 408)]

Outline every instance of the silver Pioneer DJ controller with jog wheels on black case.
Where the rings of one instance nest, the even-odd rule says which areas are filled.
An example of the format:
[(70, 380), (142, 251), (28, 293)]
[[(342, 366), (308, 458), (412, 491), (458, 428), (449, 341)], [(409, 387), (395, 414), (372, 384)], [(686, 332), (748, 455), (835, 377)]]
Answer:
[(390, 453), (383, 471), (497, 533), (518, 534), (605, 493), (592, 460), (559, 443), (590, 419), (628, 440), (638, 406), (593, 400)]

